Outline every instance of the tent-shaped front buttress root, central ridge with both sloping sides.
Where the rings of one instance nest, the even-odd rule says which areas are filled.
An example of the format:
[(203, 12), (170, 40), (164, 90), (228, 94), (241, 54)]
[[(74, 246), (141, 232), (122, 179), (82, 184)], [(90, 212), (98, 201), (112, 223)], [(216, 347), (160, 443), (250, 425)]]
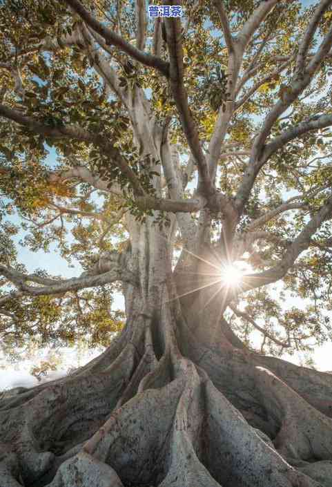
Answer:
[(111, 466), (124, 485), (319, 486), (257, 435), (191, 361), (180, 359), (173, 372), (164, 388), (137, 394), (111, 415), (84, 446), (89, 461)]

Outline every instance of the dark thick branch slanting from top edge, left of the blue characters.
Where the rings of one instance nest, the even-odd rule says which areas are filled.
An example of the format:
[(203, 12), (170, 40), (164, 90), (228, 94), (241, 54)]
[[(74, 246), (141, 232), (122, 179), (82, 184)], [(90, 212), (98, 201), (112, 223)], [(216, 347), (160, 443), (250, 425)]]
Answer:
[(145, 66), (159, 70), (163, 75), (168, 77), (168, 63), (157, 56), (150, 55), (148, 52), (137, 49), (119, 36), (114, 30), (110, 30), (103, 23), (97, 21), (79, 0), (66, 0), (66, 3), (73, 9), (81, 19), (83, 19), (90, 28), (95, 30), (101, 37), (104, 37), (106, 44), (117, 46), (121, 51), (126, 52), (130, 57), (139, 61)]

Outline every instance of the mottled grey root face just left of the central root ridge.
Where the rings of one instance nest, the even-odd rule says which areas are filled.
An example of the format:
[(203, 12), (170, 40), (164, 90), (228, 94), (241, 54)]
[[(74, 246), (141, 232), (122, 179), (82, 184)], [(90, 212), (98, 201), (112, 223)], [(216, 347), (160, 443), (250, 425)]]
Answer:
[(164, 477), (177, 402), (184, 387), (176, 379), (162, 390), (146, 390), (115, 411), (84, 450), (113, 466), (124, 484)]

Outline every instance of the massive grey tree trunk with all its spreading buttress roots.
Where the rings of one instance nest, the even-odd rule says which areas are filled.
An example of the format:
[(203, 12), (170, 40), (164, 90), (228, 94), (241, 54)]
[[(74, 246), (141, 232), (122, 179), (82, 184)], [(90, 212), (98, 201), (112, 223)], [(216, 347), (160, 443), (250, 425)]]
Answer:
[(0, 486), (331, 487), (332, 375), (248, 352), (213, 271), (172, 273), (170, 231), (129, 227), (126, 327), (2, 399)]

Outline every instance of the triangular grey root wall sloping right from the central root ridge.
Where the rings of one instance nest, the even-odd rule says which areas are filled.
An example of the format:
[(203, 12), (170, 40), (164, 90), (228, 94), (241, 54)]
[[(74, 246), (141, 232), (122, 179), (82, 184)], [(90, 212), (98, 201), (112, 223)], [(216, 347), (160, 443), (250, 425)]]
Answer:
[[(208, 416), (206, 464), (222, 486), (315, 486), (305, 475), (297, 474), (256, 434), (242, 415), (207, 383)], [(220, 461), (224, 459), (224, 461)]]

